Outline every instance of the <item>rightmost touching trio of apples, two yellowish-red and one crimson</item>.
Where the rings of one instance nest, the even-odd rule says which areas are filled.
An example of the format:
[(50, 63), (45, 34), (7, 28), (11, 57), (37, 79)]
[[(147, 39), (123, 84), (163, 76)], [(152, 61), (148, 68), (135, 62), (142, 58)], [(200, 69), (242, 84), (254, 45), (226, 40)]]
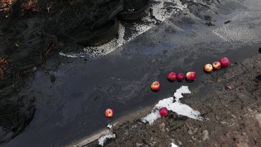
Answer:
[(219, 69), (221, 66), (225, 67), (228, 66), (230, 63), (229, 59), (227, 57), (222, 57), (219, 62), (215, 61), (212, 65), (211, 64), (206, 64), (204, 66), (204, 71), (206, 72), (212, 72), (213, 68), (214, 69)]

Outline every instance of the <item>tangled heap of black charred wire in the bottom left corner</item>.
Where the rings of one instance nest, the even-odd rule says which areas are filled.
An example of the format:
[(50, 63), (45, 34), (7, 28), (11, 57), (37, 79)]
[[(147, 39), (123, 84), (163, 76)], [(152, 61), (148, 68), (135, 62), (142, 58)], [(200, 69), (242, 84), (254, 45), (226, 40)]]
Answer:
[(33, 101), (26, 105), (18, 99), (0, 101), (0, 145), (6, 144), (28, 128), (35, 113)]

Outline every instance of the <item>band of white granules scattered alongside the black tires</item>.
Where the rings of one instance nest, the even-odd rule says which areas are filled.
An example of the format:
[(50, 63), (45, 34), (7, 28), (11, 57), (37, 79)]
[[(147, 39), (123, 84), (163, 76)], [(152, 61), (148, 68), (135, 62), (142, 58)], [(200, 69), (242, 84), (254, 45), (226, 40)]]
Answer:
[[(166, 3), (169, 2), (169, 3)], [(187, 5), (182, 5), (180, 0), (158, 0), (157, 3), (152, 3), (153, 15), (159, 21), (164, 21), (165, 19), (169, 18), (172, 14), (175, 14), (179, 10), (183, 10), (186, 8)], [(172, 7), (172, 10), (167, 10), (169, 7)], [(108, 43), (105, 43), (100, 46), (95, 47), (86, 47), (83, 49), (84, 52), (80, 54), (76, 53), (62, 53), (60, 55), (67, 56), (67, 57), (85, 57), (89, 56), (91, 59), (99, 58), (100, 56), (107, 55), (108, 53), (114, 51), (115, 49), (121, 47), (123, 44), (127, 43), (128, 41), (133, 40), (135, 37), (145, 33), (149, 29), (155, 26), (156, 19), (151, 18), (149, 16), (142, 18), (142, 23), (138, 23), (136, 21), (119, 21), (119, 35), (115, 37)], [(133, 23), (131, 28), (125, 28), (127, 23)], [(131, 37), (124, 38), (125, 32), (129, 29), (135, 29), (135, 31), (131, 34)], [(85, 54), (85, 56), (83, 56)]]

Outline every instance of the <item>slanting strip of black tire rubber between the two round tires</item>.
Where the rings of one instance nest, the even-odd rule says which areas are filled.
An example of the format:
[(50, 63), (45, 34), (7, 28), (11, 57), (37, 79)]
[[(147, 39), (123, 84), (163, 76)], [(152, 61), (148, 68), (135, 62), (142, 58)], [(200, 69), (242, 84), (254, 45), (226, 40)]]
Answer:
[(119, 3), (115, 7), (113, 7), (112, 10), (110, 10), (106, 15), (104, 15), (104, 17), (102, 17), (101, 19), (97, 20), (93, 24), (91, 29), (99, 29), (102, 26), (106, 25), (107, 22), (112, 20), (112, 18), (114, 18), (122, 10), (123, 10), (123, 0), (120, 0)]

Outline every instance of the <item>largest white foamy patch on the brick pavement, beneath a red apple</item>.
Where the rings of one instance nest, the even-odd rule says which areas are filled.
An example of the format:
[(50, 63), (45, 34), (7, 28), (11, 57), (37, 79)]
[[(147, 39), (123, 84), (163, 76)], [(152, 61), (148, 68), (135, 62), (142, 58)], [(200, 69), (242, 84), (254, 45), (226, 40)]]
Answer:
[(148, 114), (146, 117), (142, 118), (142, 122), (144, 123), (149, 122), (149, 124), (152, 125), (157, 118), (161, 117), (158, 110), (162, 107), (166, 107), (168, 110), (176, 112), (178, 115), (184, 115), (189, 118), (203, 120), (204, 118), (200, 116), (200, 112), (193, 110), (190, 106), (187, 106), (186, 104), (180, 103), (180, 98), (183, 98), (182, 94), (188, 94), (188, 93), (191, 93), (191, 91), (189, 91), (188, 89), (188, 86), (181, 86), (174, 93), (174, 97), (176, 98), (174, 103), (173, 103), (174, 97), (160, 100), (153, 107), (151, 113)]

